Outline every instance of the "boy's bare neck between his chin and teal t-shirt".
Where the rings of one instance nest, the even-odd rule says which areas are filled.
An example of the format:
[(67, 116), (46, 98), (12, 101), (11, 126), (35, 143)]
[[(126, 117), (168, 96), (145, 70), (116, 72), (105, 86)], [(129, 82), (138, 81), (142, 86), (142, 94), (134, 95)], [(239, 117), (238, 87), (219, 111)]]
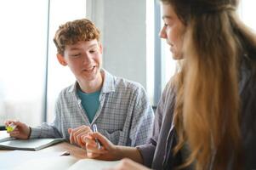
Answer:
[(90, 82), (78, 81), (78, 84), (82, 92), (86, 94), (92, 94), (94, 92), (100, 91), (103, 85), (103, 80), (104, 80), (104, 75), (100, 73), (98, 78), (96, 78), (94, 81), (90, 81)]

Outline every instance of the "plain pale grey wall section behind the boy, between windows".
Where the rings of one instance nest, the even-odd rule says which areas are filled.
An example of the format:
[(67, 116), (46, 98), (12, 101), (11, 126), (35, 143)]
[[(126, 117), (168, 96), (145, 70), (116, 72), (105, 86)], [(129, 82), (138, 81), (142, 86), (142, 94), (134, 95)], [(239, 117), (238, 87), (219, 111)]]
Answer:
[(87, 16), (102, 32), (104, 68), (146, 87), (146, 0), (88, 0)]

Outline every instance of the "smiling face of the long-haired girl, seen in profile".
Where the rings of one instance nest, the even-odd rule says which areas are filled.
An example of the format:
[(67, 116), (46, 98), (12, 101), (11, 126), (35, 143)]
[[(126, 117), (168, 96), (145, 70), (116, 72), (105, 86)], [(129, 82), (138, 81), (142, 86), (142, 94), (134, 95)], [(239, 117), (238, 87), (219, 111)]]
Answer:
[(183, 59), (182, 47), (185, 25), (179, 20), (170, 4), (162, 3), (162, 20), (164, 26), (159, 36), (166, 39), (174, 59)]

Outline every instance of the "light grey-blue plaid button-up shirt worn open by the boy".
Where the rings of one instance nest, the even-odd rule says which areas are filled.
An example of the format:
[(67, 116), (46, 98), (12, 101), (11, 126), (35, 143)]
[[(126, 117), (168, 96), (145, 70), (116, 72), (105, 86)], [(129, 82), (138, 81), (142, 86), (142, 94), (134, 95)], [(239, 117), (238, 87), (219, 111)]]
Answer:
[(67, 129), (97, 124), (98, 131), (113, 144), (136, 146), (145, 144), (151, 135), (154, 113), (145, 89), (137, 82), (114, 77), (102, 70), (103, 87), (100, 106), (90, 123), (77, 97), (77, 82), (60, 92), (52, 124), (31, 128), (33, 138), (69, 139)]

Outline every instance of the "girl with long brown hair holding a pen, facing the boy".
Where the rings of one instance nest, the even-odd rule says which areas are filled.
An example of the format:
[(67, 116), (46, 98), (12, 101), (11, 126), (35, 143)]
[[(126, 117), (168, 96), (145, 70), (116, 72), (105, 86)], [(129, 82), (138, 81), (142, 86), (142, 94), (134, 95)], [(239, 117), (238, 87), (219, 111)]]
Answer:
[[(237, 5), (162, 0), (160, 36), (182, 60), (162, 94), (152, 137), (132, 148), (91, 133), (84, 138), (89, 157), (128, 157), (154, 169), (256, 168), (256, 37), (238, 19)], [(116, 168), (145, 168), (134, 161)]]

